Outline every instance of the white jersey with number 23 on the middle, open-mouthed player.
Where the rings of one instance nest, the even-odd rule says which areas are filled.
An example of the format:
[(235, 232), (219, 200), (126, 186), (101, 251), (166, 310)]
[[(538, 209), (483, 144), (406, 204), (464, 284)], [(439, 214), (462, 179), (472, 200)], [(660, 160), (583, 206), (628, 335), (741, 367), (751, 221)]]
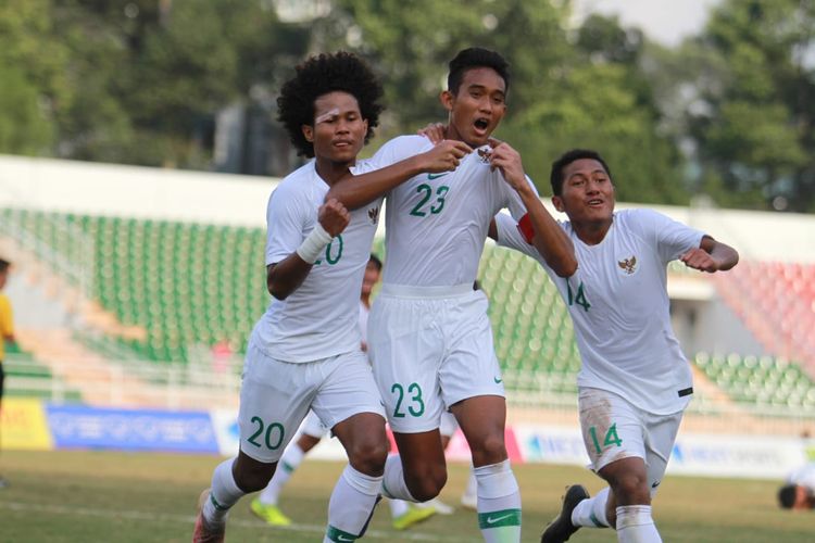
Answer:
[[(372, 160), (385, 167), (432, 146), (422, 136), (400, 136)], [(446, 287), (475, 281), (492, 216), (504, 207), (515, 218), (526, 213), (517, 192), (490, 168), (488, 150), (471, 153), (454, 172), (417, 175), (387, 194), (383, 282)]]

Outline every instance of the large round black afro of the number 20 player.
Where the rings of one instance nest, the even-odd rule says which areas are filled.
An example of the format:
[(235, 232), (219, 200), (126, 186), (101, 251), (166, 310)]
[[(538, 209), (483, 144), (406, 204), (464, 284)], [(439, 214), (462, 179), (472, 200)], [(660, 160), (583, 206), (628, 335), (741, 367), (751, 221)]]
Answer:
[(338, 51), (309, 58), (296, 68), (297, 75), (286, 81), (277, 98), (277, 119), (286, 127), (289, 139), (303, 156), (314, 156), (314, 146), (305, 139), (301, 127), (314, 125), (314, 102), (328, 92), (340, 90), (356, 99), (362, 118), (368, 122), (365, 143), (379, 125), (385, 109), (383, 85), (371, 67), (353, 53)]

